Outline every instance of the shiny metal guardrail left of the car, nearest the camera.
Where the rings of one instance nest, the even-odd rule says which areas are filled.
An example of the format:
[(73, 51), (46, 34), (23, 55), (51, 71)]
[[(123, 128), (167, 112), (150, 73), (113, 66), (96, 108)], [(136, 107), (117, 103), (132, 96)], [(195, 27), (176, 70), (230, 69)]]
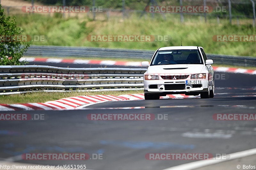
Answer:
[(38, 90), (139, 90), (145, 68), (0, 66), (0, 95)]

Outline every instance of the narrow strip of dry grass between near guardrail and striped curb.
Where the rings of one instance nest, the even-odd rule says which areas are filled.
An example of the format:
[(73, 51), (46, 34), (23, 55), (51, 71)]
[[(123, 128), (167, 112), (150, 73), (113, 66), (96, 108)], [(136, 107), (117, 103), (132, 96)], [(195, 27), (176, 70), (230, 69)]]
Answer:
[(130, 91), (91, 91), (91, 92), (36, 92), (27, 94), (13, 94), (0, 96), (1, 104), (15, 104), (15, 103), (44, 103), (47, 101), (58, 100), (66, 97), (84, 96), (84, 95), (123, 95), (123, 94), (137, 94), (143, 93), (143, 90)]

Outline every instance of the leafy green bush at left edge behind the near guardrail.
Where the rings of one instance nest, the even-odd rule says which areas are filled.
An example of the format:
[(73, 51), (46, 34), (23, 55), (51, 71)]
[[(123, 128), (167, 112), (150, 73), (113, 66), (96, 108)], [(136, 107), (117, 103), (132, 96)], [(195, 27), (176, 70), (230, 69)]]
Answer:
[(22, 65), (19, 59), (31, 44), (28, 35), (17, 26), (15, 18), (6, 17), (0, 4), (0, 65)]

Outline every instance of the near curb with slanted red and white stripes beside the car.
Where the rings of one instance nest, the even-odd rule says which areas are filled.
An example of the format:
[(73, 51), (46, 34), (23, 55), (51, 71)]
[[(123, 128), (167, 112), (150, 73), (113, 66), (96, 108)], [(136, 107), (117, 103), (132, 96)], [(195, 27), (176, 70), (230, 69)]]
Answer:
[[(188, 98), (194, 96), (186, 95), (167, 95), (161, 98)], [(194, 97), (195, 98), (195, 97)], [(108, 101), (124, 100), (144, 100), (144, 94), (131, 95), (93, 95), (93, 96), (76, 96), (67, 97), (59, 100), (45, 103), (25, 103), (25, 104), (0, 104), (0, 111), (34, 111), (34, 110), (74, 110), (86, 107), (96, 103)]]

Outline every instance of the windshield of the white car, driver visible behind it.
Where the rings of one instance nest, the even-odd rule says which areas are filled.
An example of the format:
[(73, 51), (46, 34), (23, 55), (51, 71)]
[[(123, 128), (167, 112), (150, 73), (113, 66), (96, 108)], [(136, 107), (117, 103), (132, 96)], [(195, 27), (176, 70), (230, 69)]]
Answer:
[(170, 64), (203, 64), (198, 50), (157, 51), (151, 66)]

